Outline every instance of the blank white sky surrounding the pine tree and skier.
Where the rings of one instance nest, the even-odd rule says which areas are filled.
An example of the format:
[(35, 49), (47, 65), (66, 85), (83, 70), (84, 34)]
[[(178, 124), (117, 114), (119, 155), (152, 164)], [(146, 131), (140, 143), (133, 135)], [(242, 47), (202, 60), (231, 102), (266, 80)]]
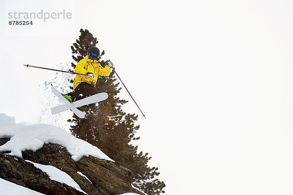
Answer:
[[(88, 29), (146, 114), (122, 94), (167, 195), (293, 194), (292, 1), (0, 2), (0, 113), (34, 122), (51, 72), (22, 65), (70, 64)], [(41, 9), (72, 19), (8, 25)]]

